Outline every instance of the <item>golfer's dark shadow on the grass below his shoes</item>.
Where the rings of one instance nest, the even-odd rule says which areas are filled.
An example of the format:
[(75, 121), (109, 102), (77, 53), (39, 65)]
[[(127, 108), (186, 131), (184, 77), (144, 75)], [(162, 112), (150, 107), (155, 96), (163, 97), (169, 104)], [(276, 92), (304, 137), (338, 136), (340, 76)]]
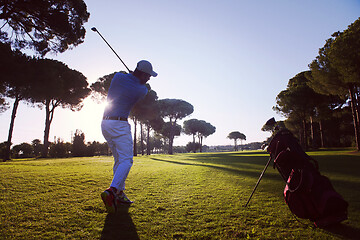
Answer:
[(102, 240), (139, 240), (136, 227), (129, 215), (129, 206), (120, 206), (116, 214), (108, 214), (104, 229), (101, 232)]

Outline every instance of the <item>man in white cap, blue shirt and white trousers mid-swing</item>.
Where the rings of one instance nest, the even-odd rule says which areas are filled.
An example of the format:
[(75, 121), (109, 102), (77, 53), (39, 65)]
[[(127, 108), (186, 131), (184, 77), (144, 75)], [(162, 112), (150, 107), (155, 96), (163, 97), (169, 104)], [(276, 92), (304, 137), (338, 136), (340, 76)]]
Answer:
[(156, 77), (152, 65), (146, 60), (137, 63), (134, 72), (116, 73), (111, 80), (101, 130), (114, 156), (113, 180), (101, 193), (108, 212), (115, 212), (119, 204), (131, 204), (125, 195), (125, 180), (133, 164), (133, 140), (128, 116), (135, 103), (148, 92), (145, 84)]

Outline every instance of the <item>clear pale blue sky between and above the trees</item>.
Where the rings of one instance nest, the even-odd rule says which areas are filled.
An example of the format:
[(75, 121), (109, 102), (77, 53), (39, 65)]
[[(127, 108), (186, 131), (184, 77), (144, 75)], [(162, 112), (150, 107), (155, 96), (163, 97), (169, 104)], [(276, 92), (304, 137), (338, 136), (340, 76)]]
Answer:
[[(58, 55), (46, 55), (82, 72), (89, 84), (126, 70), (96, 33), (95, 26), (130, 69), (149, 60), (158, 77), (150, 85), (160, 99), (194, 106), (185, 118), (205, 120), (216, 132), (206, 145), (227, 145), (232, 131), (247, 141), (264, 141), (278, 93), (297, 73), (308, 70), (325, 40), (360, 17), (359, 0), (85, 0), (90, 18), (85, 42)], [(55, 110), (50, 141), (70, 141), (76, 129), (86, 141), (104, 142), (104, 105), (85, 101), (80, 112)], [(11, 109), (0, 114), (0, 141), (6, 141)], [(182, 121), (180, 122), (182, 124)], [(45, 109), (21, 104), (13, 143), (43, 140)], [(175, 138), (185, 145), (190, 136)]]

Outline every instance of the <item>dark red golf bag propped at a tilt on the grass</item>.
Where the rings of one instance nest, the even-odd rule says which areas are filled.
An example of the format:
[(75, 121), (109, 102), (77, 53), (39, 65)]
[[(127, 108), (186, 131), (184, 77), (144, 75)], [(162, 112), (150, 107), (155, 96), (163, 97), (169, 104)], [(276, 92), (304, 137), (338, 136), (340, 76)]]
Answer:
[(348, 203), (320, 174), (317, 161), (303, 151), (289, 130), (280, 130), (267, 151), (286, 182), (284, 198), (292, 213), (317, 227), (347, 219)]

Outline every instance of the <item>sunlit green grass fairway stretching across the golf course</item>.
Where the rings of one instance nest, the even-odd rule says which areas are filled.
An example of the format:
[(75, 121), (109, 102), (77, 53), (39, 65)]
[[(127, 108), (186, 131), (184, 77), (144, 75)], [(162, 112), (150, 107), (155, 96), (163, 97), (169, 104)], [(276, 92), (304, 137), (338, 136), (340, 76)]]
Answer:
[(359, 239), (360, 155), (310, 153), (349, 202), (349, 219), (329, 229), (298, 222), (285, 183), (262, 152), (136, 157), (126, 193), (135, 201), (107, 214), (100, 193), (112, 157), (0, 163), (1, 239)]

